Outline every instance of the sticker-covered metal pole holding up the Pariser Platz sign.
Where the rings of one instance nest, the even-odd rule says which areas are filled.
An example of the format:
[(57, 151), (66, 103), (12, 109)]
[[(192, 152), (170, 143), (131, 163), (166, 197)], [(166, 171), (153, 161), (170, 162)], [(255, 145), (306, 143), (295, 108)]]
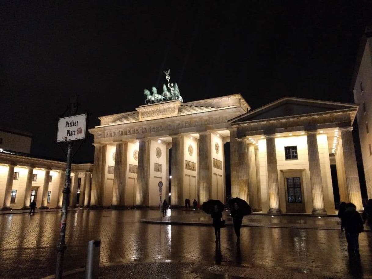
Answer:
[(65, 185), (63, 187), (63, 200), (62, 200), (62, 217), (60, 223), (60, 242), (57, 244), (57, 265), (55, 268), (55, 278), (62, 279), (62, 265), (63, 265), (63, 255), (67, 249), (65, 244), (65, 235), (66, 235), (66, 219), (67, 219), (67, 206), (68, 198), (70, 196), (70, 175), (71, 175), (71, 153), (72, 145), (71, 142), (68, 142), (67, 148), (67, 164), (66, 164), (66, 179)]

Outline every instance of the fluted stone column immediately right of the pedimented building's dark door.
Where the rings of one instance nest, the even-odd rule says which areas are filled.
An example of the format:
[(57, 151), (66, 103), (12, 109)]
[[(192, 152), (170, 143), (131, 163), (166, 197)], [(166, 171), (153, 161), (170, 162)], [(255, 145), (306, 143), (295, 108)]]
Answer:
[(312, 194), (312, 215), (327, 215), (324, 209), (323, 183), (320, 169), (317, 130), (306, 131)]

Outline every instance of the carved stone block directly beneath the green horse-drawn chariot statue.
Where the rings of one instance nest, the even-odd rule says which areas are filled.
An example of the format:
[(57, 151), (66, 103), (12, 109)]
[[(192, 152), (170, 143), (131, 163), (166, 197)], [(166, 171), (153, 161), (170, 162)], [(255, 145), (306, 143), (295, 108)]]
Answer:
[(166, 118), (178, 115), (178, 108), (182, 103), (180, 101), (161, 102), (151, 105), (139, 106), (138, 120), (151, 120), (158, 118)]

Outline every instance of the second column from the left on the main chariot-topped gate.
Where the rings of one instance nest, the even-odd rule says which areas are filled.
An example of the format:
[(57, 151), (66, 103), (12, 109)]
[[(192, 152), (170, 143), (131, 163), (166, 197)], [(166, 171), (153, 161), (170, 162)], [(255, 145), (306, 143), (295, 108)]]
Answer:
[(125, 201), (125, 174), (128, 142), (116, 142), (114, 180), (112, 185), (112, 208), (121, 206)]

